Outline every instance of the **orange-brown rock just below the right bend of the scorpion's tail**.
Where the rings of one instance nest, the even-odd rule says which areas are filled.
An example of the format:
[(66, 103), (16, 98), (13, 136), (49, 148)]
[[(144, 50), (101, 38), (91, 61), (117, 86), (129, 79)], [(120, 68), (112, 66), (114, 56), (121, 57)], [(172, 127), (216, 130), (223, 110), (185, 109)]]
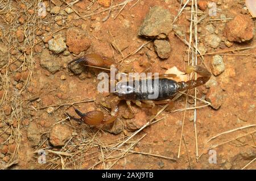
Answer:
[(214, 110), (218, 110), (223, 103), (222, 92), (220, 86), (212, 86), (205, 97), (205, 99), (210, 102), (210, 107)]

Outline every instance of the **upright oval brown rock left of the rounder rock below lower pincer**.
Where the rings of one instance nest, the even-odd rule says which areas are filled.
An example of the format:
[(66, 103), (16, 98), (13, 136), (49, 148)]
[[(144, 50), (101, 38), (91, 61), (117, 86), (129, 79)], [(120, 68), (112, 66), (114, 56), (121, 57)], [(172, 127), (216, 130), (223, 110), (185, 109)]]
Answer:
[(31, 122), (27, 129), (27, 138), (32, 146), (37, 146), (41, 140), (40, 128), (35, 122)]

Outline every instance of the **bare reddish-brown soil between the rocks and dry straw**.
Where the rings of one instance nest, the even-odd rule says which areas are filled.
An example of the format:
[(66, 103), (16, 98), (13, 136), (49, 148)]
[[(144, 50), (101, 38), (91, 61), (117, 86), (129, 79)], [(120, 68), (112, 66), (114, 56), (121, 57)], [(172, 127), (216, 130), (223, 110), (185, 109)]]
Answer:
[[(16, 9), (13, 9), (11, 12), (1, 15), (0, 18), (0, 25), (5, 27), (5, 31), (7, 33), (5, 35), (3, 33), (3, 29), (0, 29), (2, 30), (0, 43), (8, 44), (8, 41), (11, 40), (11, 43), (9, 44), (10, 52), (12, 50), (17, 50), (19, 52), (14, 55), (10, 54), (10, 62), (18, 58), (20, 54), (20, 47), (22, 47), (23, 45), (25, 45), (25, 47), (28, 46), (28, 44), (25, 44), (24, 41), (19, 43), (18, 40), (16, 40), (16, 30), (18, 30), (19, 27), (24, 29), (24, 24), (20, 24), (19, 20), (17, 19), (23, 17), (24, 21), (26, 22), (26, 20), (28, 19), (27, 17), (30, 16), (28, 8), (33, 9), (32, 7), (36, 6), (36, 4), (33, 4), (32, 1), (32, 7), (29, 7), (29, 5), (22, 5), (21, 2), (16, 2), (14, 1), (10, 5), (12, 7), (16, 7)], [(114, 4), (118, 4), (122, 1), (113, 2)], [(102, 19), (108, 15), (109, 11), (104, 11), (101, 14), (93, 15), (89, 19), (86, 18), (86, 20), (83, 20), (81, 18), (77, 20), (72, 20), (73, 24), (71, 25), (71, 27), (86, 27), (86, 30), (88, 31), (87, 33), (90, 37), (90, 48), (86, 50), (86, 53), (99, 53), (102, 54), (102, 56), (114, 57), (115, 61), (118, 61), (122, 58), (122, 56), (110, 47), (110, 42), (113, 42), (114, 38), (119, 48), (123, 50), (122, 53), (125, 56), (140, 47), (143, 43), (145, 43), (147, 39), (138, 36), (138, 28), (141, 25), (150, 7), (155, 5), (162, 6), (165, 9), (170, 10), (173, 18), (176, 16), (177, 10), (179, 10), (179, 2), (177, 2), (176, 0), (141, 0), (138, 2), (137, 5), (131, 8), (131, 6), (135, 2), (136, 1), (128, 3), (116, 19), (114, 19), (114, 16), (117, 15), (118, 10), (112, 11), (109, 19), (106, 20), (106, 22), (102, 22)], [(234, 16), (241, 14), (241, 10), (244, 6), (243, 1), (238, 0), (220, 2), (222, 3), (221, 5), (218, 5), (218, 8), (221, 9), (221, 13), (217, 13), (217, 18), (219, 18), (220, 14), (225, 14), (227, 18), (233, 18)], [(95, 1), (92, 7), (90, 7), (91, 10), (86, 10), (86, 7), (88, 7), (90, 3), (90, 1), (82, 0), (79, 3), (76, 3), (73, 8), (81, 15), (89, 14), (91, 10), (96, 9), (98, 6), (97, 1)], [(26, 7), (20, 10), (20, 6)], [(53, 3), (51, 3), (51, 6), (54, 6)], [(65, 5), (63, 3), (63, 5), (61, 5), (61, 9), (64, 9), (64, 7)], [(121, 7), (119, 7), (119, 9), (120, 8)], [(105, 7), (100, 7), (99, 10), (103, 9), (105, 9)], [(207, 13), (207, 11), (208, 10), (206, 10), (205, 12)], [(73, 18), (77, 16), (75, 12), (72, 12), (71, 15)], [(13, 17), (14, 19), (8, 19), (9, 16)], [(66, 24), (71, 23), (70, 21), (65, 20), (65, 23), (63, 25), (57, 25), (54, 21), (55, 16), (51, 16), (52, 15), (47, 12), (47, 16), (46, 18), (42, 19), (38, 30), (42, 31), (43, 33), (51, 33), (59, 30), (61, 27), (65, 27)], [(180, 30), (185, 33), (187, 40), (189, 39), (190, 24), (188, 19), (190, 19), (190, 12), (184, 12), (175, 23), (180, 28)], [(200, 23), (199, 27), (203, 29), (209, 23), (212, 22), (209, 22), (209, 16), (207, 16), (203, 20), (203, 22)], [(100, 25), (99, 30), (96, 30), (97, 28), (92, 28), (95, 26), (95, 24)], [(38, 22), (35, 23), (35, 25), (38, 26)], [(225, 23), (216, 21), (216, 23), (213, 23), (213, 26), (218, 29), (221, 26), (224, 27)], [(9, 31), (10, 28), (14, 28), (14, 30)], [(67, 28), (63, 28), (63, 30), (60, 30), (58, 33), (65, 35), (66, 32)], [(110, 35), (110, 33), (113, 35), (113, 37), (112, 35)], [(30, 36), (33, 35), (31, 34)], [(200, 36), (201, 34), (199, 34), (199, 41), (204, 44), (204, 37)], [(218, 36), (222, 37), (221, 30), (218, 32)], [(40, 41), (41, 38), (42, 35), (35, 35), (36, 41)], [(187, 45), (185, 45), (183, 41), (175, 36), (174, 31), (172, 31), (170, 35), (168, 35), (168, 40), (170, 41), (172, 49), (171, 55), (168, 59), (160, 60), (156, 55), (154, 51), (154, 45), (151, 42), (146, 45), (146, 47), (139, 50), (139, 52), (135, 53), (133, 56), (126, 58), (123, 66), (126, 66), (126, 62), (131, 62), (130, 66), (132, 65), (133, 71), (141, 72), (146, 68), (140, 66), (139, 64), (143, 61), (146, 61), (150, 62), (150, 70), (152, 72), (164, 73), (167, 68), (171, 68), (172, 66), (177, 66), (177, 68), (179, 68), (180, 70), (184, 70), (185, 66), (187, 65), (187, 62), (184, 61), (187, 60)], [(39, 49), (48, 49), (46, 48), (47, 43), (44, 43), (43, 41), (38, 43), (38, 45)], [(253, 45), (255, 45), (255, 36), (253, 40), (247, 41), (246, 43), (234, 43), (233, 46), (230, 48), (225, 47), (223, 41), (217, 49), (207, 47), (207, 45), (205, 45), (205, 47), (208, 48), (208, 52), (217, 52), (223, 50), (221, 48), (224, 48), (224, 50), (228, 50), (251, 47)], [(9, 93), (7, 94), (5, 104), (1, 107), (0, 113), (0, 148), (3, 156), (3, 158), (0, 158), (0, 166), (7, 168), (9, 163), (15, 161), (16, 164), (11, 165), (11, 169), (61, 169), (61, 159), (59, 156), (53, 153), (47, 153), (46, 164), (38, 163), (38, 153), (33, 153), (34, 150), (38, 149), (38, 146), (32, 146), (32, 141), (28, 140), (27, 138), (28, 125), (31, 124), (31, 122), (36, 123), (36, 128), (38, 129), (38, 131), (35, 130), (35, 132), (42, 133), (39, 142), (39, 145), (42, 145), (40, 146), (40, 148), (47, 148), (48, 146), (51, 146), (49, 142), (49, 134), (52, 131), (53, 124), (65, 119), (67, 117), (64, 114), (65, 112), (69, 112), (71, 115), (75, 115), (75, 111), (73, 111), (72, 106), (61, 106), (53, 113), (48, 114), (47, 108), (43, 107), (51, 106), (54, 104), (60, 105), (64, 103), (72, 103), (88, 98), (96, 99), (97, 102), (80, 103), (75, 104), (74, 106), (79, 108), (79, 110), (83, 112), (102, 110), (105, 115), (108, 115), (108, 112), (106, 112), (104, 108), (102, 108), (99, 104), (100, 100), (103, 99), (105, 95), (97, 92), (97, 72), (92, 69), (86, 69), (85, 73), (83, 73), (82, 75), (74, 75), (67, 68), (67, 62), (75, 58), (75, 56), (73, 56), (72, 54), (69, 56), (63, 56), (62, 53), (54, 54), (54, 56), (56, 58), (59, 57), (59, 60), (61, 61), (61, 69), (60, 71), (52, 74), (40, 66), (39, 62), (41, 58), (41, 53), (35, 53), (35, 50), (33, 51), (34, 52), (32, 52), (32, 58), (34, 60), (34, 68), (31, 82), (28, 84), (26, 89), (22, 91), (22, 94), (20, 96), (15, 96), (17, 95), (15, 93), (17, 91), (15, 90), (19, 91), (19, 87), (17, 88), (16, 86), (15, 88), (15, 85), (13, 85), (12, 82), (14, 81), (15, 77), (14, 73), (10, 73), (10, 70), (15, 70), (16, 68), (19, 68), (19, 66), (22, 65), (22, 62), (17, 61), (9, 66)], [(215, 136), (218, 133), (256, 123), (255, 53), (256, 52), (254, 48), (234, 52), (234, 54), (251, 54), (252, 56), (223, 56), (225, 71), (216, 77), (218, 85), (223, 90), (223, 103), (218, 110), (213, 110), (213, 108), (211, 107), (203, 107), (197, 109), (196, 129), (199, 153), (198, 159), (196, 159), (195, 128), (193, 125), (194, 111), (187, 110), (184, 119), (184, 139), (181, 142), (179, 159), (177, 159), (177, 154), (179, 150), (181, 125), (183, 121), (184, 111), (171, 113), (164, 120), (161, 120), (158, 123), (152, 124), (150, 127), (143, 129), (143, 131), (138, 133), (133, 138), (133, 141), (135, 141), (141, 138), (144, 134), (146, 134), (146, 136), (137, 143), (134, 149), (132, 149), (133, 151), (163, 155), (165, 157), (176, 158), (177, 161), (171, 161), (159, 157), (152, 157), (150, 155), (127, 154), (125, 158), (119, 159), (119, 161), (113, 165), (112, 169), (242, 169), (242, 167), (244, 167), (247, 163), (249, 163), (256, 157), (255, 132), (247, 134), (247, 136), (243, 136), (243, 134), (255, 131), (255, 127), (224, 134), (208, 143), (207, 141), (209, 140), (209, 138)], [(147, 54), (150, 54), (150, 60), (148, 59)], [(233, 54), (233, 52), (229, 52), (229, 54)], [(29, 56), (29, 53), (27, 54), (27, 56)], [(212, 55), (204, 56), (204, 62), (208, 69), (210, 67), (210, 60), (212, 60)], [(199, 62), (199, 64), (201, 63)], [(24, 65), (23, 68), (28, 66), (30, 66), (30, 64)], [(26, 72), (24, 70), (19, 71), (21, 73)], [(5, 75), (5, 72), (6, 68), (1, 69), (2, 77)], [(66, 79), (61, 80), (61, 75), (65, 75)], [(4, 88), (2, 87), (1, 94), (3, 94), (3, 90)], [(203, 92), (209, 91), (204, 86), (199, 87), (197, 90), (197, 97), (203, 99), (205, 97)], [(191, 91), (191, 95), (193, 94), (193, 91)], [(20, 113), (19, 111), (20, 107), (17, 107), (17, 105), (20, 105), (20, 100), (22, 102), (22, 113)], [(193, 100), (189, 99), (189, 102), (192, 104), (188, 103), (188, 107), (193, 107)], [(7, 109), (10, 108), (6, 105), (11, 106), (12, 111), (10, 115), (6, 115), (6, 112), (8, 112)], [(197, 101), (197, 106), (203, 105), (203, 102)], [(5, 107), (5, 110), (3, 109), (3, 107)], [(172, 109), (178, 110), (184, 107), (185, 96), (181, 96), (179, 99), (176, 100), (175, 106)], [(121, 104), (121, 112), (124, 111), (126, 108), (127, 107), (125, 104)], [(124, 131), (117, 135), (111, 134), (106, 131), (98, 131), (98, 129), (95, 127), (89, 127), (85, 124), (79, 124), (73, 120), (64, 120), (63, 122), (68, 124), (73, 132), (77, 133), (77, 136), (73, 136), (72, 140), (68, 142), (67, 147), (70, 145), (79, 145), (83, 141), (90, 140), (92, 139), (93, 135), (96, 135), (94, 137), (96, 140), (101, 140), (101, 142), (103, 143), (108, 143), (111, 140), (122, 138), (124, 134), (133, 134), (135, 130), (127, 129), (127, 123), (132, 122), (134, 127), (141, 127), (142, 125), (147, 123), (151, 115), (150, 111), (147, 108), (138, 108), (135, 105), (133, 105), (133, 108), (137, 112), (135, 114), (135, 117), (131, 120), (121, 118), (121, 121), (125, 125), (125, 127)], [(159, 110), (160, 108), (162, 108), (162, 106), (159, 106)], [(164, 111), (163, 113), (161, 113), (158, 119), (160, 117), (168, 115), (168, 113), (168, 111)], [(8, 119), (14, 120), (14, 124), (10, 125), (10, 128), (7, 130), (7, 132), (4, 132), (5, 129), (9, 127), (6, 124), (6, 121)], [(15, 133), (15, 135), (11, 135), (12, 132)], [(239, 136), (243, 137), (236, 140), (235, 138)], [(208, 154), (210, 146), (221, 144), (224, 141), (232, 139), (235, 140), (213, 148), (213, 150), (215, 150), (217, 153), (217, 163), (210, 164), (210, 155)], [(7, 146), (7, 153), (6, 150), (4, 150), (6, 149), (6, 147), (4, 146)], [(127, 145), (126, 147), (121, 147), (121, 149), (125, 148), (128, 148)], [(65, 151), (65, 149), (61, 150), (61, 148), (51, 148), (51, 150)], [(75, 153), (78, 150), (78, 148), (72, 149), (70, 150), (70, 153)], [(98, 150), (100, 150), (100, 148), (97, 148), (96, 146), (93, 146), (92, 149), (82, 150), (81, 153), (79, 153), (79, 159), (77, 159), (76, 164), (68, 165), (69, 162), (74, 163), (74, 159), (76, 159), (77, 157), (73, 157), (72, 159), (69, 159), (64, 155), (62, 155), (61, 157), (63, 157), (65, 161), (65, 168), (67, 169), (89, 169), (101, 159), (100, 152), (92, 153), (93, 151)], [(53, 161), (53, 158), (56, 159), (54, 160), (54, 162), (51, 162)], [(109, 167), (114, 162), (115, 159), (107, 161), (105, 163), (106, 165), (100, 163), (96, 165), (94, 169), (104, 169), (104, 166)], [(253, 162), (246, 167), (246, 169), (255, 168), (256, 162)]]

